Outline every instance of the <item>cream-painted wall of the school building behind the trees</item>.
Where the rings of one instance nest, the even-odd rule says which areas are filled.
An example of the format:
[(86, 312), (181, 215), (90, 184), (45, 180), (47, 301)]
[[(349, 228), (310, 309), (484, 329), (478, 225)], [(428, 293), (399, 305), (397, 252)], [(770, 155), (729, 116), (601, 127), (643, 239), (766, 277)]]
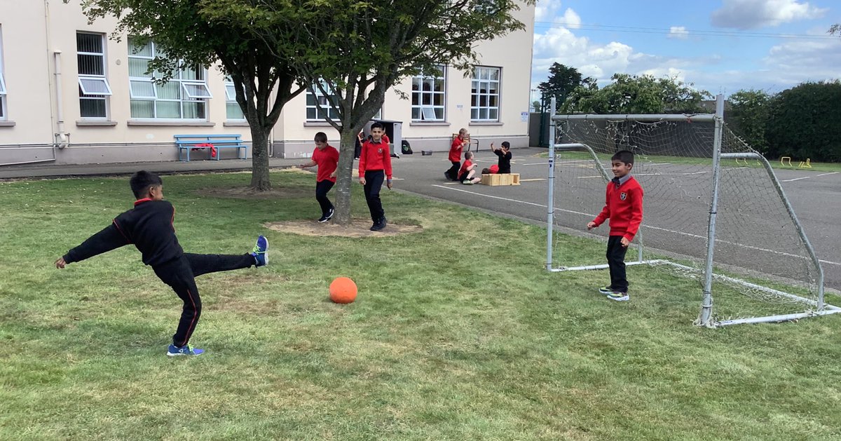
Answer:
[[(386, 94), (382, 118), (403, 121), (403, 138), (413, 150), (446, 150), (451, 134), (461, 127), (483, 146), (505, 140), (512, 146), (527, 145), (527, 122), (521, 112), (528, 110), (534, 7), (524, 7), (517, 17), (526, 24), (525, 32), (479, 44), (481, 66), (501, 68), (498, 122), (471, 122), (471, 80), (452, 67), (447, 67), (445, 121), (412, 122), (411, 100)], [(116, 19), (88, 24), (80, 2), (0, 0), (0, 68), (7, 91), (0, 117), (0, 164), (174, 161), (175, 134), (237, 133), (250, 140), (244, 120), (227, 119), (224, 78), (215, 67), (205, 77), (213, 98), (207, 100), (203, 120), (132, 118), (129, 45), (125, 38), (110, 38), (116, 24)], [(104, 75), (112, 92), (105, 118), (81, 115), (77, 32), (105, 36)], [(411, 78), (397, 88), (411, 96)], [(302, 93), (286, 104), (272, 130), (272, 154), (308, 156), (317, 131), (338, 143), (330, 125), (306, 121)], [(223, 155), (234, 157), (234, 152)]]

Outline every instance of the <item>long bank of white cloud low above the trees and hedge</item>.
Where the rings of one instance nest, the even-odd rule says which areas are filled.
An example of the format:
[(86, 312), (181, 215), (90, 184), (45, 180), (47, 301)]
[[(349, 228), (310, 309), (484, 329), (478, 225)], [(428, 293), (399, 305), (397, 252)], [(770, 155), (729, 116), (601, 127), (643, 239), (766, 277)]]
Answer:
[[(540, 3), (545, 2), (541, 0)], [(795, 4), (791, 1), (782, 3)], [(555, 4), (559, 6), (559, 3)], [(732, 4), (732, 0), (725, 0), (725, 8)], [(562, 11), (558, 8), (557, 16), (547, 21), (560, 22)], [(580, 23), (578, 14), (572, 19), (572, 13), (563, 13), (563, 20)], [(648, 52), (658, 50), (656, 45), (632, 47), (621, 40), (591, 40), (575, 35), (576, 32), (579, 31), (572, 26), (564, 26), (549, 28), (535, 35), (532, 88), (546, 81), (553, 62), (574, 67), (584, 77), (594, 77), (600, 87), (609, 84), (614, 73), (627, 73), (658, 78), (674, 77), (713, 94), (735, 93), (748, 88), (776, 93), (801, 82), (841, 78), (841, 39), (784, 40), (767, 49), (764, 57), (761, 51), (739, 55), (727, 48), (701, 49), (698, 52), (697, 46), (687, 50), (687, 53), (693, 53), (694, 56), (661, 56), (657, 55), (659, 52)], [(682, 26), (674, 26), (670, 32), (670, 38), (691, 36)], [(824, 32), (825, 29), (817, 29), (814, 33), (823, 35)], [(689, 39), (687, 44), (700, 45), (703, 41)], [(719, 51), (720, 54), (716, 53)]]

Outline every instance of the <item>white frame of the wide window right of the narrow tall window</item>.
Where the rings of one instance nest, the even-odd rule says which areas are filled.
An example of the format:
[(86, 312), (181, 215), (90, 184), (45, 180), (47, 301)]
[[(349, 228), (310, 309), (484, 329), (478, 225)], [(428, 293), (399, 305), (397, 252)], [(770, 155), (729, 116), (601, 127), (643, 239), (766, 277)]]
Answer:
[[(133, 38), (133, 37), (130, 37), (130, 39), (131, 38)], [(129, 59), (140, 59), (140, 60), (145, 60), (145, 61), (148, 62), (148, 61), (154, 60), (156, 56), (161, 55), (159, 53), (159, 51), (157, 50), (157, 47), (156, 47), (154, 41), (149, 41), (148, 43), (146, 43), (146, 45), (150, 46), (151, 56), (133, 54), (132, 49), (131, 49), (133, 47), (133, 45), (130, 43), (129, 44), (129, 54), (128, 54)], [(152, 103), (152, 116), (151, 117), (132, 115), (131, 118), (133, 120), (156, 120), (156, 121), (206, 121), (206, 120), (208, 120), (208, 118), (209, 118), (209, 114), (208, 114), (209, 105), (208, 105), (207, 100), (213, 98), (213, 95), (210, 93), (210, 90), (209, 90), (208, 84), (207, 84), (207, 78), (208, 78), (207, 69), (204, 69), (204, 67), (201, 67), (201, 66), (196, 66), (195, 72), (196, 72), (196, 77), (198, 77), (198, 79), (196, 79), (196, 78), (184, 78), (183, 77), (184, 72), (185, 72), (184, 69), (179, 70), (178, 72), (174, 72), (174, 75), (173, 75), (172, 79), (169, 80), (169, 82), (167, 82), (165, 84), (160, 84), (160, 85), (157, 84), (156, 82), (154, 82), (154, 79), (155, 79), (154, 75), (152, 75), (151, 77), (132, 77), (131, 73), (130, 73), (129, 74), (130, 75), (130, 77), (129, 77), (130, 102), (131, 103), (136, 103), (136, 102), (151, 102)], [(152, 82), (153, 90), (155, 92), (155, 96), (152, 97), (152, 96), (149, 96), (149, 95), (143, 95), (143, 94), (139, 93), (138, 91), (135, 91), (135, 88), (132, 87), (133, 82)], [(170, 82), (176, 82), (177, 83), (178, 98), (161, 98), (160, 93), (158, 93), (158, 89), (163, 87), (164, 85), (170, 83)], [(188, 86), (195, 86), (195, 87), (200, 88), (199, 93), (193, 93), (193, 91), (189, 90)], [(174, 118), (173, 117), (168, 117), (168, 118), (158, 117), (157, 114), (158, 114), (158, 104), (159, 103), (178, 103), (179, 104), (178, 105), (178, 114), (180, 114), (181, 116), (174, 117)], [(184, 114), (185, 114), (184, 104), (193, 104), (193, 103), (204, 104), (203, 115), (198, 117), (198, 118), (185, 118), (184, 117)]]

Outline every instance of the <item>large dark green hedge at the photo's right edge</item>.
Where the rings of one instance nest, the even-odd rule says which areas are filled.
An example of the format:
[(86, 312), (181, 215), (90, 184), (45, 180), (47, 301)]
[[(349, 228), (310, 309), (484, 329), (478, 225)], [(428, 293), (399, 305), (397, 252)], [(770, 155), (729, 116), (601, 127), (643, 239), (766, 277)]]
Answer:
[(779, 93), (765, 133), (771, 157), (841, 162), (841, 82), (804, 82)]

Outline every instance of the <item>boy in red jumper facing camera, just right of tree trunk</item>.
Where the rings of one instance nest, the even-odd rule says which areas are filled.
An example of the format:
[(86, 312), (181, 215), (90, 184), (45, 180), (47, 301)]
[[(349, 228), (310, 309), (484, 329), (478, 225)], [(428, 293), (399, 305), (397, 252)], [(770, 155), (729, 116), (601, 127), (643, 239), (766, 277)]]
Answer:
[(371, 231), (385, 228), (386, 219), (383, 203), (379, 200), (379, 190), (383, 187), (383, 175), (391, 189), (391, 153), (389, 142), (383, 139), (382, 123), (371, 125), (371, 139), (362, 143), (359, 154), (359, 183), (365, 186), (365, 200), (371, 212), (373, 225)]

